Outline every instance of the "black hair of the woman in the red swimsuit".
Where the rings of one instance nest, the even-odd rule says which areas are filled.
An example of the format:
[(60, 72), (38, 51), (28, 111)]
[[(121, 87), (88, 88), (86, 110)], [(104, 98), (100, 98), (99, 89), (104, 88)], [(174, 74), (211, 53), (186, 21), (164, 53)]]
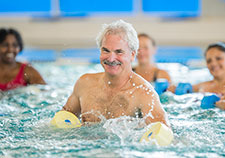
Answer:
[(21, 37), (20, 33), (15, 29), (0, 28), (0, 43), (2, 43), (8, 35), (14, 35), (15, 36), (15, 38), (18, 42), (18, 45), (20, 47), (20, 52), (21, 52), (23, 50), (23, 40), (22, 40), (22, 37)]

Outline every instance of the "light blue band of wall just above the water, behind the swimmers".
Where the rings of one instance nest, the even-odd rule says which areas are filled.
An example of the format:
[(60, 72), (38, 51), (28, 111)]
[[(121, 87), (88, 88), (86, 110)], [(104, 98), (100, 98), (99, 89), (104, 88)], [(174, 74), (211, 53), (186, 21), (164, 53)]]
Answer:
[[(79, 62), (99, 63), (100, 51), (98, 48), (74, 48), (61, 51), (51, 49), (25, 49), (18, 56), (20, 61), (54, 62), (60, 59), (77, 59)], [(181, 63), (187, 65), (190, 61), (204, 59), (200, 47), (161, 46), (155, 55), (157, 63)]]

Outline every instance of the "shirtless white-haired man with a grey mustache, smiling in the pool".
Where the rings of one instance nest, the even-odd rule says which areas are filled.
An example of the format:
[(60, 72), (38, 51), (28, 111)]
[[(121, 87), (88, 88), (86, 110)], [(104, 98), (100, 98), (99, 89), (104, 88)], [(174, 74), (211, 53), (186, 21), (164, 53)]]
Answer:
[(154, 88), (132, 71), (139, 46), (132, 25), (123, 20), (104, 25), (97, 44), (105, 71), (81, 76), (63, 110), (81, 116), (82, 122), (133, 116), (146, 124), (159, 121), (168, 125)]

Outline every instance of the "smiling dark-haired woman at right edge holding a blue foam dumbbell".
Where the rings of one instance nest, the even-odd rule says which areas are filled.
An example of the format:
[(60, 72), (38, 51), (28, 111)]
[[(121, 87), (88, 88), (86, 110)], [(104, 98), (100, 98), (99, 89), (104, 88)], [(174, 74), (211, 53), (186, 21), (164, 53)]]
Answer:
[(219, 94), (222, 97), (216, 105), (225, 109), (225, 43), (210, 44), (205, 52), (205, 60), (213, 79), (194, 85), (193, 91)]

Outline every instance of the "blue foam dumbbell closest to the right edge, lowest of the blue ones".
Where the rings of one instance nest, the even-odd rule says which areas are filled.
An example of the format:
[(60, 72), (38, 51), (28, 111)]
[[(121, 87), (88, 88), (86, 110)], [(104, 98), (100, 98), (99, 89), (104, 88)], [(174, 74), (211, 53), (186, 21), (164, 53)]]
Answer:
[(215, 107), (215, 103), (220, 100), (216, 94), (204, 96), (201, 101), (201, 108), (202, 109), (210, 109)]

